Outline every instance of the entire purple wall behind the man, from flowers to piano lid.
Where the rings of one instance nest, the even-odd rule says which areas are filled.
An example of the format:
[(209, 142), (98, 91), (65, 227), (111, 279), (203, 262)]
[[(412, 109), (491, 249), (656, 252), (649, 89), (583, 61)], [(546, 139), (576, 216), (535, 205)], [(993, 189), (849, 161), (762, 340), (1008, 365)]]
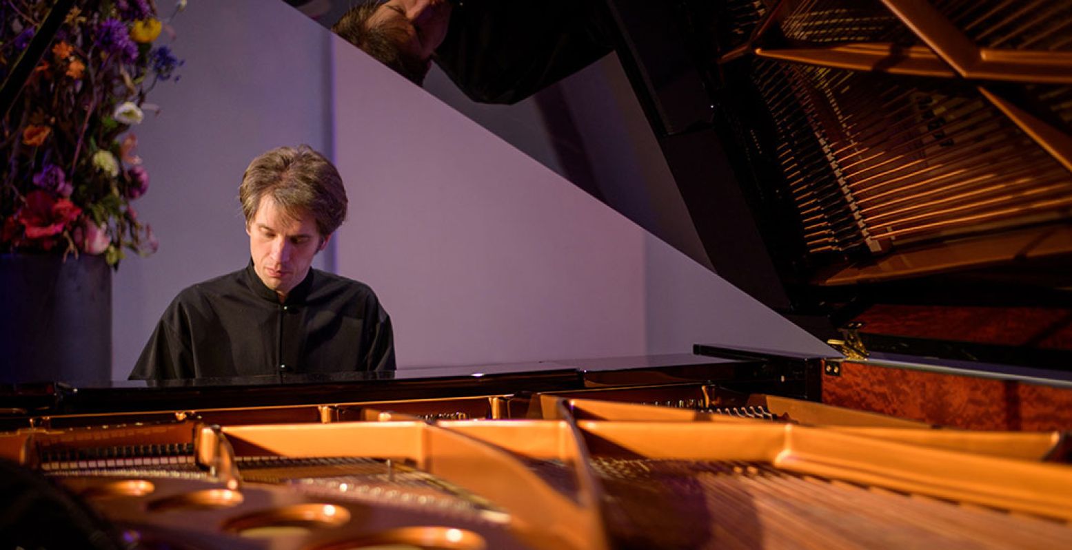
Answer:
[(319, 263), (377, 291), (402, 368), (695, 341), (828, 351), (283, 2), (194, 1), (175, 27), (182, 79), (153, 91), (164, 110), (135, 128), (152, 177), (136, 208), (161, 248), (117, 273), (116, 378), (179, 290), (244, 265), (242, 170), (301, 142), (333, 154), (351, 194)]

